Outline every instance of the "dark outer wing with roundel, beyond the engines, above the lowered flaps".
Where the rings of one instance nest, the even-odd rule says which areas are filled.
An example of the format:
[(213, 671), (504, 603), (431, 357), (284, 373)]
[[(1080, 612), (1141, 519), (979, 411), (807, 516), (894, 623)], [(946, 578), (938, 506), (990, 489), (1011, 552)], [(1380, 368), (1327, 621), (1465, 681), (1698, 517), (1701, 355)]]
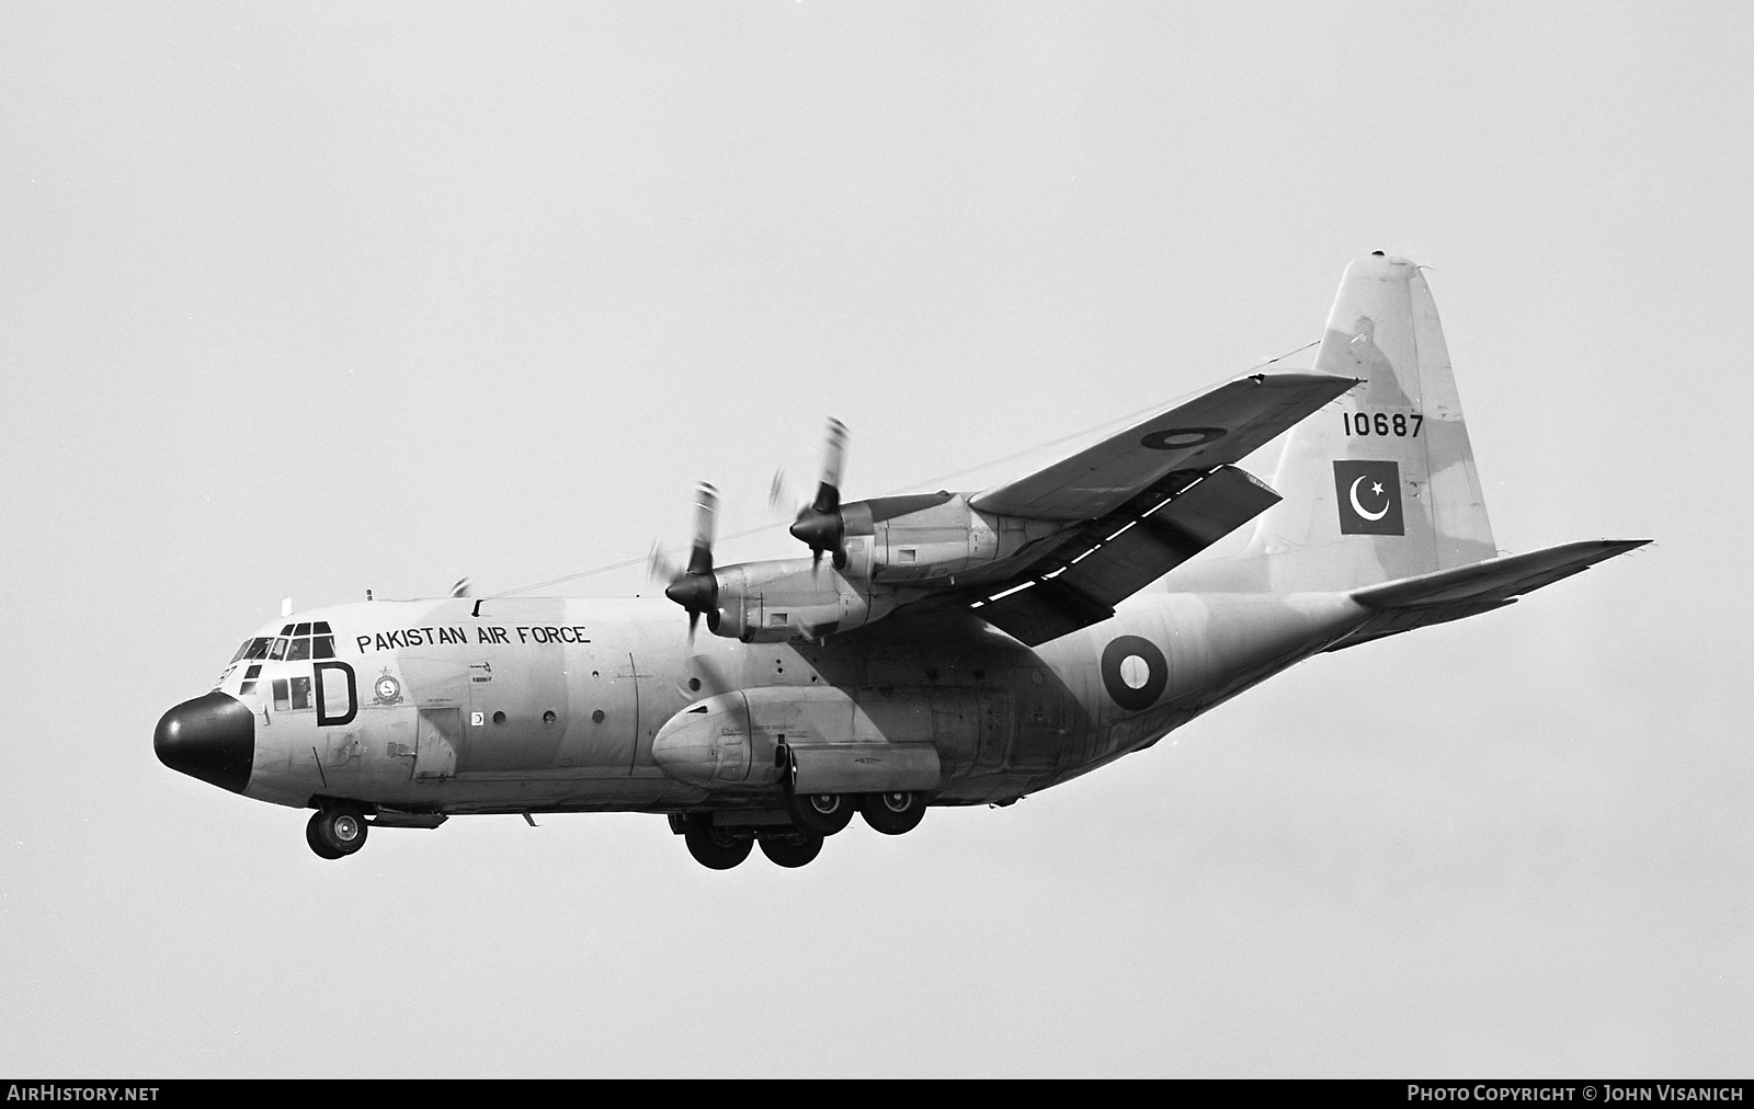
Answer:
[(1231, 381), (1028, 477), (993, 486), (970, 504), (1000, 516), (1100, 519), (1175, 470), (1242, 461), (1356, 384), (1333, 374)]

